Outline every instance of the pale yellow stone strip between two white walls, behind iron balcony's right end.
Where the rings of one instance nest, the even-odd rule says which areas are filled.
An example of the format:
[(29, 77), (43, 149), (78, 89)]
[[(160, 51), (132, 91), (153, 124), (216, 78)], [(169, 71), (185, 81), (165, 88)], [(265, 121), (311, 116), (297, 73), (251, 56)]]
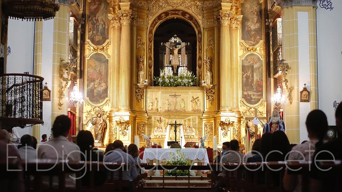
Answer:
[[(42, 76), (42, 43), (43, 43), (43, 21), (35, 23), (35, 55), (34, 55), (34, 75)], [(32, 135), (40, 138), (40, 125), (33, 126)]]

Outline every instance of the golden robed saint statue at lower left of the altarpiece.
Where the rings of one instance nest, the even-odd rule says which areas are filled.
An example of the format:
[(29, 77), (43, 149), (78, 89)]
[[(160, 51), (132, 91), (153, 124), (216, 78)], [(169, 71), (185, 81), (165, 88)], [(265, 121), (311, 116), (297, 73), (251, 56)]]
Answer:
[(106, 131), (107, 131), (107, 123), (102, 119), (101, 113), (97, 113), (96, 118), (91, 120), (91, 133), (94, 136), (94, 140), (97, 143), (104, 143)]

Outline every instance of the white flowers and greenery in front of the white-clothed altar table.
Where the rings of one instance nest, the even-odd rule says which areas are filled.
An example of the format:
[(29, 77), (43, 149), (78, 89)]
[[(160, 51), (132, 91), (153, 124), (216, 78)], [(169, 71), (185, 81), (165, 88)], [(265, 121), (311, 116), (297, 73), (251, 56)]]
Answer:
[[(190, 160), (185, 159), (185, 154), (180, 149), (176, 150), (176, 155), (170, 152), (168, 161), (161, 163), (162, 165), (191, 165)], [(165, 176), (187, 176), (189, 170), (164, 170)]]

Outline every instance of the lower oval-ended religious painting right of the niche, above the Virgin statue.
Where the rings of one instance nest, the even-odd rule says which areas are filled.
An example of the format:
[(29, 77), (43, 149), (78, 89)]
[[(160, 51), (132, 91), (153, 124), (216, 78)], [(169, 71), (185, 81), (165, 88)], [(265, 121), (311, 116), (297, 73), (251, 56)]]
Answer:
[(258, 55), (249, 54), (242, 62), (242, 99), (250, 105), (263, 98), (263, 61)]

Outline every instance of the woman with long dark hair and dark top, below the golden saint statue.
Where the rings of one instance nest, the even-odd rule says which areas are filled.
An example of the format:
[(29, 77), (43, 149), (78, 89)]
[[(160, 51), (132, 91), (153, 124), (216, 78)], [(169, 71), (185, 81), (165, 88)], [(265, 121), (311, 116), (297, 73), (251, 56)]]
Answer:
[[(93, 151), (94, 147), (94, 137), (90, 131), (79, 131), (77, 134), (77, 145), (80, 148), (81, 161), (97, 161), (103, 162), (103, 156), (97, 154), (96, 151)], [(85, 170), (86, 171), (86, 170)], [(84, 173), (82, 173), (83, 175)], [(97, 170), (94, 173), (94, 186), (101, 186), (105, 181), (107, 174), (105, 170), (100, 171)], [(89, 186), (90, 182), (90, 173), (86, 173), (84, 177), (82, 177), (82, 186)]]

